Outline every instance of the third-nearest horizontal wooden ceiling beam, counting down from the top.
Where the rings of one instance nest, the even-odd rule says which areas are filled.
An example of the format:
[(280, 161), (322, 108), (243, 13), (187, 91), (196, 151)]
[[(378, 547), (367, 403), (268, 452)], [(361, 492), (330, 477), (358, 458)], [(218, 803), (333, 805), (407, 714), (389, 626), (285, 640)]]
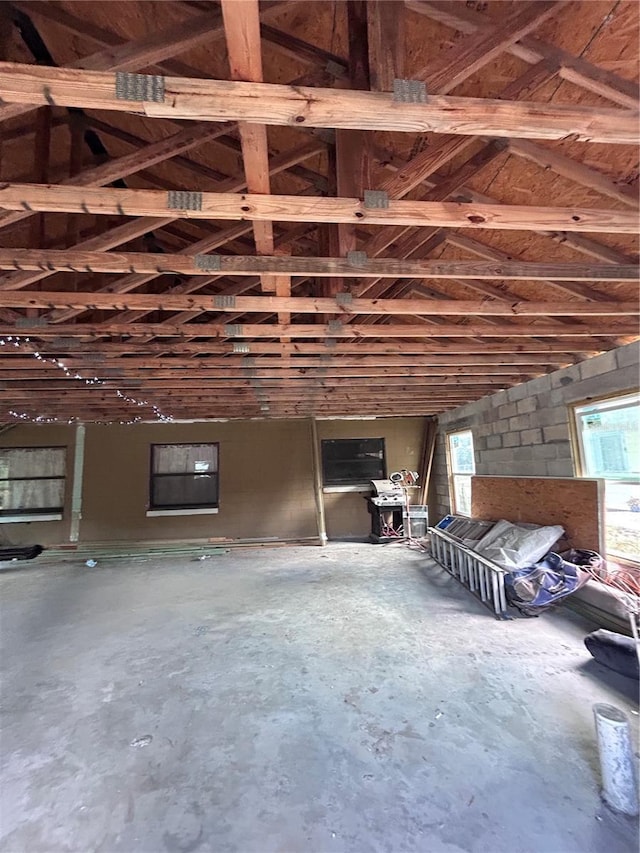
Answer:
[[(205, 238), (206, 242), (222, 239)], [(521, 281), (637, 281), (638, 265), (536, 263), (517, 261), (466, 235), (447, 232), (447, 241), (489, 258), (488, 261), (371, 258), (361, 263), (346, 258), (301, 256), (260, 257), (205, 253), (81, 252), (74, 249), (0, 249), (0, 269), (82, 273), (155, 273), (211, 277), (269, 273), (290, 276), (352, 276), (357, 278), (498, 279)], [(204, 242), (204, 241), (201, 241)], [(197, 245), (197, 244), (196, 244)], [(190, 247), (191, 248), (191, 247)], [(113, 291), (112, 291), (113, 292)]]

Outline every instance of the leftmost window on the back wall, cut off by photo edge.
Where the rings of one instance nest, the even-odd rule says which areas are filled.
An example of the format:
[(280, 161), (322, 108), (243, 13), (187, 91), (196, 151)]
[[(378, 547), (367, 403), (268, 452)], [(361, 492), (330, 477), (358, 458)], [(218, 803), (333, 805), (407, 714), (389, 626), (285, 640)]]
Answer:
[(66, 447), (0, 450), (0, 521), (62, 518)]

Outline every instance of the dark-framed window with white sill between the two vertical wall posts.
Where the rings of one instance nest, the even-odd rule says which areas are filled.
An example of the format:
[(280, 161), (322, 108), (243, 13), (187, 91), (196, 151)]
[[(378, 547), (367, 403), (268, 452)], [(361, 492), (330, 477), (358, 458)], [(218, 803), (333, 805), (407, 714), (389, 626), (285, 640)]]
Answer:
[(217, 444), (152, 444), (149, 515), (218, 510)]

